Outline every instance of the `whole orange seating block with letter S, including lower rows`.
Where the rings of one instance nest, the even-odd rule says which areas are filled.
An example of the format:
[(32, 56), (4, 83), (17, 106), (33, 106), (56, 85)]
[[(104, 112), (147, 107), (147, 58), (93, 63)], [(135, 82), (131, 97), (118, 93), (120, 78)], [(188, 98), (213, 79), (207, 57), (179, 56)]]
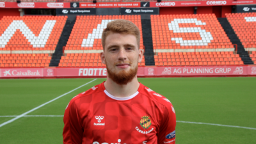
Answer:
[(243, 65), (214, 14), (151, 15), (155, 65)]

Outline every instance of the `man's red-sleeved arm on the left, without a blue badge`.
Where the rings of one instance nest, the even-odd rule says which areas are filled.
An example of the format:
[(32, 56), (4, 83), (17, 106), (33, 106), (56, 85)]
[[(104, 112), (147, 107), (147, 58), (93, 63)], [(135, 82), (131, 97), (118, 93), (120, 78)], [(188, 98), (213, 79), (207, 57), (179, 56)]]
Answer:
[(63, 143), (81, 144), (83, 141), (83, 127), (74, 100), (68, 104), (64, 114)]

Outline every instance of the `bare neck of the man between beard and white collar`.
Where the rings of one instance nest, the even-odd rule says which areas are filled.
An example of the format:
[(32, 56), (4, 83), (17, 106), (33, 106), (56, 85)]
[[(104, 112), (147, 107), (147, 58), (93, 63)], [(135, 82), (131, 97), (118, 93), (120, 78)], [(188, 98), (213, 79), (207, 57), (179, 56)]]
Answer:
[(108, 93), (115, 97), (129, 97), (138, 91), (140, 83), (138, 82), (137, 76), (135, 76), (131, 82), (123, 85), (117, 84), (107, 77), (104, 86)]

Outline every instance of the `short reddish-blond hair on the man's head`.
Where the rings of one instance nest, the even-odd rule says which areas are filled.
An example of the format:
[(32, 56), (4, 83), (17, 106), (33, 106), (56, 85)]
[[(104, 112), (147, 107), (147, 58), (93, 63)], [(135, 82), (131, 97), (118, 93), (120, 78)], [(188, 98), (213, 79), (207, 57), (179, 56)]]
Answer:
[(131, 34), (136, 36), (138, 49), (140, 49), (140, 29), (131, 21), (118, 19), (113, 20), (107, 24), (107, 28), (104, 29), (102, 36), (101, 36), (101, 43), (104, 50), (106, 37), (110, 33), (124, 33), (124, 34)]

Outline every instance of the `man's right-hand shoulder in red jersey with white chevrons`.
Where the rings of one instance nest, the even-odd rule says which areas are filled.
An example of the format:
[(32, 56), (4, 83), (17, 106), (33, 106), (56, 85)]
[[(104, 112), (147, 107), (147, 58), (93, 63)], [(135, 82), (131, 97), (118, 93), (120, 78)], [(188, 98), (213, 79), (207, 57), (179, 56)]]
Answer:
[(154, 100), (154, 102), (157, 102), (164, 107), (172, 106), (172, 102), (170, 102), (169, 99), (167, 99), (166, 97), (164, 97), (159, 93), (154, 92), (154, 90), (151, 90), (147, 86), (143, 86), (143, 90), (141, 90), (141, 94), (147, 96), (149, 99)]

